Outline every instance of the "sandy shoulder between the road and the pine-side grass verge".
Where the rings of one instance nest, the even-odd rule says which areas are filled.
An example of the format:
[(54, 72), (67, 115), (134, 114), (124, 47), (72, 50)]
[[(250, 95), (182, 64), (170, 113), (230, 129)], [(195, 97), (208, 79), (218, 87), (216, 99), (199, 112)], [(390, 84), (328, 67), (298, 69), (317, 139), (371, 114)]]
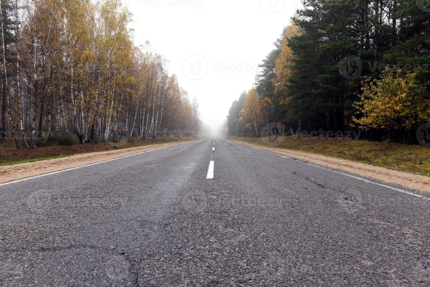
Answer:
[(252, 145), (247, 142), (239, 142), (244, 145), (258, 147), (267, 151), (273, 151), (279, 154), (295, 157), (300, 160), (307, 160), (314, 164), (319, 164), (333, 169), (344, 170), (350, 173), (355, 173), (360, 176), (380, 179), (385, 182), (392, 182), (402, 185), (406, 188), (414, 188), (421, 191), (430, 191), (430, 178), (427, 176), (415, 175), (396, 170), (389, 170), (384, 167), (375, 167), (370, 164), (362, 164), (351, 160), (343, 160), (335, 157), (327, 157), (319, 154), (311, 154), (304, 151), (294, 151), (283, 148), (268, 148), (261, 145)]

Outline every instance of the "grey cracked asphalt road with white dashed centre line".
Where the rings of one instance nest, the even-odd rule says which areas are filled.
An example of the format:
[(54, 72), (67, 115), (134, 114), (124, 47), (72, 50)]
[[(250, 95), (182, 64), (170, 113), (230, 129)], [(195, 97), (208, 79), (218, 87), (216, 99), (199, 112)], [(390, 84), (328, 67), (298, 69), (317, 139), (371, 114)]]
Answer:
[(213, 143), (0, 186), (0, 284), (430, 284), (429, 194)]

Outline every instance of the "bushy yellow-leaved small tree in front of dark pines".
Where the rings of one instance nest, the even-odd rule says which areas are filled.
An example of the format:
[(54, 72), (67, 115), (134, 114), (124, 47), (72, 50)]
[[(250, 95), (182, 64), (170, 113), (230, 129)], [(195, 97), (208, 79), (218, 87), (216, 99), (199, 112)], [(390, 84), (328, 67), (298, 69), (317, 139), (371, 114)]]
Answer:
[(430, 100), (426, 87), (417, 80), (418, 72), (403, 74), (387, 67), (380, 80), (370, 77), (362, 82), (361, 101), (355, 107), (362, 116), (353, 120), (364, 130), (382, 129), (384, 139), (406, 135), (430, 121)]

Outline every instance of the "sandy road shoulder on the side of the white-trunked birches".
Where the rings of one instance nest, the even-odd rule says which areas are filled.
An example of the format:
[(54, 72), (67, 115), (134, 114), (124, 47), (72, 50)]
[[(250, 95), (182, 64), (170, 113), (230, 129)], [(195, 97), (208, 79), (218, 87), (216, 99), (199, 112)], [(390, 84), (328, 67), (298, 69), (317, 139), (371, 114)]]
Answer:
[(16, 179), (37, 176), (43, 173), (52, 173), (58, 170), (65, 170), (73, 167), (81, 167), (86, 164), (93, 164), (104, 160), (111, 160), (130, 154), (137, 154), (143, 151), (150, 151), (156, 148), (164, 148), (170, 145), (178, 145), (184, 142), (172, 142), (158, 145), (145, 145), (136, 148), (125, 148), (114, 151), (99, 151), (85, 154), (75, 154), (70, 157), (61, 157), (51, 160), (40, 160), (31, 163), (14, 164), (0, 167), (0, 183), (9, 182)]

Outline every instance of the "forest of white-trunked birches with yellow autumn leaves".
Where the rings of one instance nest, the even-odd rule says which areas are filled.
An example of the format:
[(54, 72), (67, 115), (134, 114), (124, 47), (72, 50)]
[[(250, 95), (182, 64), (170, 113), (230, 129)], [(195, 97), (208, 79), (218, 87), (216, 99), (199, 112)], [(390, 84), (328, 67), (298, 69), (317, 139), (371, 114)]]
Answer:
[(198, 103), (120, 0), (1, 0), (1, 138), (16, 148), (192, 133)]

